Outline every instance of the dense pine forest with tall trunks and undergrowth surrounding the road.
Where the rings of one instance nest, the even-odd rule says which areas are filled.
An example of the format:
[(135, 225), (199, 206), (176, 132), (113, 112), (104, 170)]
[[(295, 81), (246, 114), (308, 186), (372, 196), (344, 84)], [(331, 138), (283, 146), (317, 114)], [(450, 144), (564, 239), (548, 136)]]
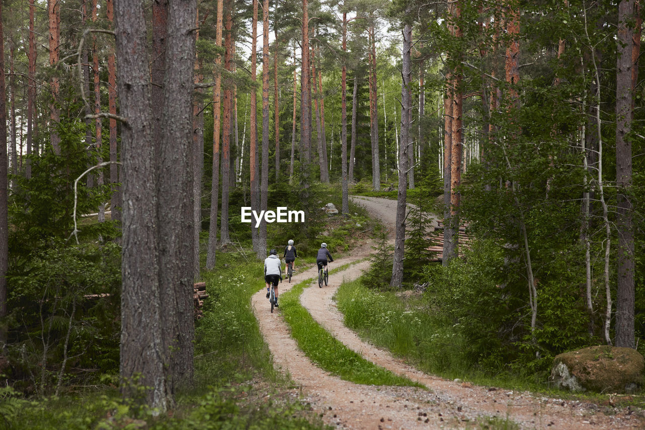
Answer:
[[(350, 215), (350, 191), (399, 202), (367, 284), (424, 285), (468, 366), (543, 376), (578, 347), (645, 351), (639, 1), (1, 6), (0, 373), (17, 391), (118, 373), (171, 407), (217, 254), (313, 252), (319, 206)], [(255, 228), (241, 206), (307, 220)]]

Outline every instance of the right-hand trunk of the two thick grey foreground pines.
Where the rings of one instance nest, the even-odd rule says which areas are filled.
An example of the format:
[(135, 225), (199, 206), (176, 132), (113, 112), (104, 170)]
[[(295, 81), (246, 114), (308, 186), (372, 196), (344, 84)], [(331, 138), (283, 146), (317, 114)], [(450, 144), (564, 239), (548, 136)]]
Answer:
[[(165, 369), (173, 394), (190, 386), (194, 373), (193, 285), (195, 266), (199, 267), (194, 262), (194, 237), (200, 228), (194, 221), (194, 193), (186, 191), (197, 182), (193, 169), (201, 164), (194, 162), (199, 155), (192, 140), (196, 19), (196, 1), (168, 2), (157, 216)], [(164, 174), (171, 171), (172, 175)], [(201, 175), (197, 179), (201, 184)]]

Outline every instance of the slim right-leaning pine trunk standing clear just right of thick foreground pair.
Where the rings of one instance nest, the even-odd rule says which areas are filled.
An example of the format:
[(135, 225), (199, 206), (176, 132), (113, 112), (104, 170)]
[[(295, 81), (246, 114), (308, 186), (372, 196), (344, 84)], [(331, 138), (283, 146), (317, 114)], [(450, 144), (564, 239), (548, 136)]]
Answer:
[[(215, 26), (215, 45), (222, 46), (222, 24), (224, 12), (224, 0), (217, 0), (217, 24)], [(219, 204), (219, 122), (222, 110), (222, 55), (215, 57), (215, 88), (213, 88), (213, 173), (210, 189), (210, 224), (208, 226), (208, 250), (206, 251), (206, 269), (215, 268), (215, 249), (217, 248), (217, 212)]]

